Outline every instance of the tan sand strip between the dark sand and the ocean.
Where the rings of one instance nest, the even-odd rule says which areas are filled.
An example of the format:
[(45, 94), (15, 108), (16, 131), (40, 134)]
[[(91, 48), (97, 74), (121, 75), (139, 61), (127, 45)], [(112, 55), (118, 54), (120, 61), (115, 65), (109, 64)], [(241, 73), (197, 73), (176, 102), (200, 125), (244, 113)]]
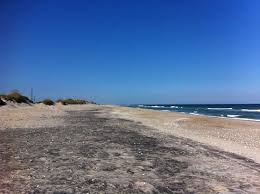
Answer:
[(260, 122), (225, 117), (208, 117), (154, 109), (115, 107), (124, 119), (141, 122), (161, 133), (189, 138), (260, 163)]

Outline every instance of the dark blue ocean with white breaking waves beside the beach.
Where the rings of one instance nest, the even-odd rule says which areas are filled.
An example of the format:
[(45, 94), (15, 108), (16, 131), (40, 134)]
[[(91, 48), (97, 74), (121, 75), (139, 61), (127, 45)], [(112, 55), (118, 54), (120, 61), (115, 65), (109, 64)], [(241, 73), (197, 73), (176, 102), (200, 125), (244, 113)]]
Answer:
[(260, 121), (260, 104), (138, 104), (130, 107)]

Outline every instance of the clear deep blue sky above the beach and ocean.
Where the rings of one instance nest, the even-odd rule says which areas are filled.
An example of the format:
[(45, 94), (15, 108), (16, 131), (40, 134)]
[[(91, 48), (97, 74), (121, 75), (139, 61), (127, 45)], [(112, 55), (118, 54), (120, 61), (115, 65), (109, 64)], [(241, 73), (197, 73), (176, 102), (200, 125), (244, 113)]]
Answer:
[(258, 0), (4, 0), (0, 92), (260, 103)]

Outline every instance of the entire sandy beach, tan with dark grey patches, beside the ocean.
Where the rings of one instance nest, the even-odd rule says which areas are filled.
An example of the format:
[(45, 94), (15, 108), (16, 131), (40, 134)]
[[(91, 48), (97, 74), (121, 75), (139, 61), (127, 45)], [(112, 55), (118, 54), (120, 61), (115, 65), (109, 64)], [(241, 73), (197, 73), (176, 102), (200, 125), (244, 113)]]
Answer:
[(0, 193), (260, 192), (260, 122), (34, 105), (0, 123)]

